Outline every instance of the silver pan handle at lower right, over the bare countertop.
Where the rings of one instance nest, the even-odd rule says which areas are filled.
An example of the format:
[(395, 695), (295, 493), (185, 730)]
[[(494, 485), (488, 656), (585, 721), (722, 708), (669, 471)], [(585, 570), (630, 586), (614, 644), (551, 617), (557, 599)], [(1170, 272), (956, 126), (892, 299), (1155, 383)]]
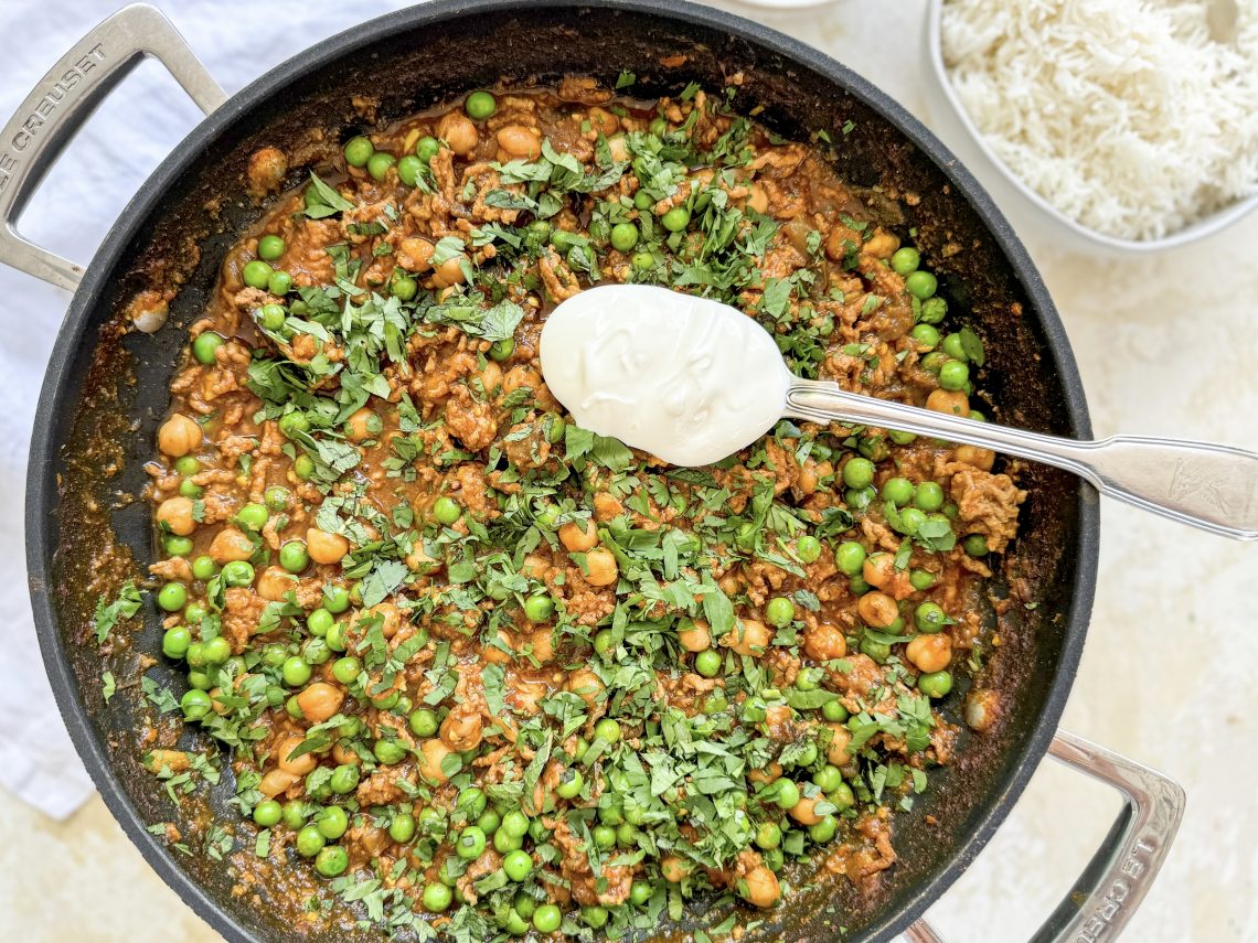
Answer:
[[(1184, 817), (1184, 790), (1161, 773), (1072, 733), (1058, 731), (1049, 754), (1113, 786), (1123, 806), (1105, 844), (1032, 943), (1110, 943), (1140, 907)], [(905, 934), (910, 943), (944, 943), (925, 920)]]

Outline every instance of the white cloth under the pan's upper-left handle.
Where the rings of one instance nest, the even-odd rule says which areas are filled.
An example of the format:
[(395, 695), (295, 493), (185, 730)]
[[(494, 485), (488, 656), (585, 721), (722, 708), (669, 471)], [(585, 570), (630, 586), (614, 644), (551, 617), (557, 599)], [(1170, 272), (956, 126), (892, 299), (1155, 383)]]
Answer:
[[(57, 59), (125, 0), (0, 4), (0, 122)], [(161, 4), (161, 0), (159, 0)], [(161, 4), (211, 74), (235, 92), (312, 43), (401, 4), (386, 0), (167, 0)], [(153, 167), (199, 121), (165, 69), (141, 64), (65, 150), (21, 218), (38, 245), (87, 262)], [(0, 785), (64, 819), (92, 783), (65, 734), (44, 675), (26, 595), (23, 495), (44, 366), (69, 293), (0, 267)], [(88, 692), (87, 697), (93, 697)]]

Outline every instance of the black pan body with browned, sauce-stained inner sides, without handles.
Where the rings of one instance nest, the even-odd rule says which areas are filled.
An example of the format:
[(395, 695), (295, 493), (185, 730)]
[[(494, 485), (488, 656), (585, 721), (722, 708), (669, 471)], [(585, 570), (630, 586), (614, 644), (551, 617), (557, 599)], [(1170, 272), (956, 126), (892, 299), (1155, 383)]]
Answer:
[[(98, 595), (113, 598), (152, 562), (150, 509), (135, 500), (146, 482), (142, 464), (169, 404), (186, 327), (208, 303), (226, 248), (264, 211), (237, 196), (248, 190), (247, 160), (259, 147), (306, 158), (304, 166), (294, 161), (291, 167), (291, 185), (347, 137), (472, 88), (554, 83), (564, 74), (590, 74), (610, 85), (629, 69), (638, 77), (635, 92), (659, 96), (692, 80), (720, 88), (741, 72), (737, 111), (761, 108), (757, 119), (789, 138), (827, 131), (840, 175), (879, 195), (899, 231), (916, 228), (916, 243), (950, 306), (971, 311), (981, 326), (984, 382), (1001, 404), (995, 417), (1059, 435), (1088, 433), (1069, 351), (1029, 262), (1006, 231), (994, 234), (984, 223), (985, 197), (975, 201), (962, 192), (931, 153), (866, 103), (877, 97), (871, 88), (848, 73), (837, 83), (825, 74), (828, 60), (694, 8), (681, 18), (681, 8), (671, 4), (654, 5), (673, 10), (668, 16), (635, 4), (530, 6), (527, 13), (502, 3), (472, 6), (431, 4), (367, 24), (359, 39), (330, 40), (225, 106), (199, 132), (203, 140), (164, 165), (151, 190), (128, 209), (75, 297), (50, 367), (49, 382), (58, 389), (45, 389), (28, 499), (28, 528), (39, 529), (30, 538), (31, 588), (45, 660), (114, 813), (167, 880), (190, 883), (181, 888), (185, 899), (230, 939), (292, 939), (293, 928), (312, 940), (380, 937), (353, 930), (342, 908), (331, 920), (312, 920), (302, 905), (317, 889), (293, 874), (258, 883), (253, 827), (225, 811), (234, 792), (229, 775), (179, 807), (171, 803), (140, 763), (156, 728), (177, 723), (145, 699), (141, 673), (176, 690), (184, 683), (160, 658), (160, 620), (147, 610), (142, 625), (137, 619), (121, 627), (121, 641), (103, 650), (91, 621)], [(467, 11), (457, 14), (457, 8)], [(491, 29), (492, 41), (486, 41)], [(362, 107), (369, 99), (371, 123)], [(879, 107), (892, 108), (882, 101)], [(898, 112), (897, 121), (905, 121)], [(1016, 265), (1008, 256), (1010, 244)], [(167, 326), (148, 336), (130, 329), (125, 312), (138, 292), (152, 289), (170, 289), (174, 297)], [(820, 881), (745, 939), (829, 940), (842, 929), (843, 939), (864, 940), (898, 930), (955, 879), (976, 852), (971, 839), (999, 822), (1025, 783), (1082, 646), (1096, 516), (1092, 493), (1063, 472), (1027, 466), (1020, 484), (1030, 497), (1020, 537), (994, 586), (994, 595), (1008, 598), (993, 606), (991, 631), (1001, 644), (982, 680), (999, 693), (1001, 720), (988, 733), (965, 734), (955, 763), (932, 776), (912, 813), (897, 817), (899, 863), (877, 889)], [(118, 684), (108, 703), (101, 697), (106, 669)], [(949, 700), (959, 723), (964, 697), (959, 690)], [(208, 738), (185, 732), (180, 744), (204, 751)], [(170, 826), (146, 835), (137, 822)], [(231, 866), (204, 851), (215, 825), (234, 830), (235, 850), (225, 855)], [(195, 854), (172, 850), (176, 842)], [(686, 923), (708, 919), (720, 915), (694, 908)]]

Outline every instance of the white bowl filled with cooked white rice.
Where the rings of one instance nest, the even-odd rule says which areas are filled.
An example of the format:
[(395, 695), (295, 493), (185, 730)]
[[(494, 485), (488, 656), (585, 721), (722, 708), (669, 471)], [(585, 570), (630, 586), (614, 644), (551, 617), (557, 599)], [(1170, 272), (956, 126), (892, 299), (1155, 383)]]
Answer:
[(1258, 0), (930, 0), (926, 47), (982, 155), (1093, 245), (1258, 206)]

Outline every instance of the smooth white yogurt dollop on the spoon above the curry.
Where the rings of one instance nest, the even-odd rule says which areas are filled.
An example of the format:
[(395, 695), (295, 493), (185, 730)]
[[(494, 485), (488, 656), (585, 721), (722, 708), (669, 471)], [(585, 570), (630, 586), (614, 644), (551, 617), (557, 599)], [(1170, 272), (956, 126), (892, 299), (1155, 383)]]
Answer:
[(781, 417), (790, 373), (772, 337), (720, 302), (653, 285), (569, 298), (541, 338), (546, 386), (577, 425), (674, 465), (707, 465)]

